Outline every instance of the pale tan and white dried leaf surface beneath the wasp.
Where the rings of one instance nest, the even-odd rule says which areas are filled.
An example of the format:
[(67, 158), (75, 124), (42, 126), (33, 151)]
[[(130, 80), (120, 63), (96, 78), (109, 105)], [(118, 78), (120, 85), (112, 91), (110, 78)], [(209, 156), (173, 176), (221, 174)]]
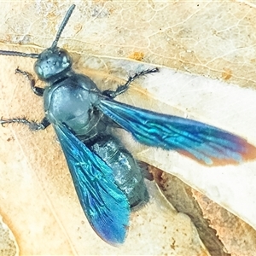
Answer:
[[(0, 3), (0, 49), (40, 52), (48, 47), (70, 5), (50, 1)], [(90, 75), (102, 88), (122, 83), (127, 73), (148, 67), (125, 60), (141, 53), (145, 63), (162, 67), (160, 73), (137, 81), (126, 96), (119, 97), (120, 101), (199, 119), (256, 144), (256, 95), (251, 89), (255, 80), (254, 12), (249, 2), (80, 1), (60, 46), (73, 53), (76, 70)], [(32, 95), (26, 79), (14, 74), (17, 66), (32, 72), (33, 61), (0, 58), (2, 115), (43, 118), (42, 99)], [(251, 88), (166, 67), (213, 79), (228, 78)], [(227, 71), (229, 75), (223, 77)], [(164, 213), (156, 214), (154, 200), (132, 215), (125, 246), (108, 247), (84, 218), (52, 129), (31, 133), (13, 125), (0, 132), (0, 187), (5, 195), (1, 213), (8, 216), (19, 234), (21, 254), (207, 253), (197, 235), (189, 236), (186, 245), (177, 245), (177, 241), (183, 241), (178, 234), (184, 237), (185, 233), (175, 231), (179, 215), (170, 211), (168, 219)], [(209, 169), (174, 152), (143, 148), (127, 134), (123, 138), (137, 158), (181, 177), (256, 227), (255, 162)], [(183, 218), (179, 220), (184, 222)], [(167, 231), (160, 231), (160, 224), (165, 222)], [(160, 241), (155, 241), (155, 234), (163, 234)], [(191, 241), (196, 241), (195, 247)], [(179, 251), (181, 247), (184, 251)]]

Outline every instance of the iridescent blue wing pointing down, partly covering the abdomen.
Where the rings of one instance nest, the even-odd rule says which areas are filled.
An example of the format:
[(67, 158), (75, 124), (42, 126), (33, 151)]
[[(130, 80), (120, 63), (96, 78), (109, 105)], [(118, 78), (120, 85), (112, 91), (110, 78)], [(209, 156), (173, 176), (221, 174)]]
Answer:
[(114, 183), (112, 169), (64, 125), (54, 125), (79, 196), (80, 204), (98, 236), (112, 245), (125, 241), (130, 206)]

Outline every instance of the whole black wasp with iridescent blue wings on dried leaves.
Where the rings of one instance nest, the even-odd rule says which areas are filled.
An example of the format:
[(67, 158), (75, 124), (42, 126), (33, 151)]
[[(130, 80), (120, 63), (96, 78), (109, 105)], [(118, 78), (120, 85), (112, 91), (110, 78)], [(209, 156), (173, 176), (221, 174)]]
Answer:
[(131, 211), (143, 207), (149, 196), (137, 161), (113, 135), (113, 128), (131, 132), (139, 143), (177, 150), (209, 166), (253, 160), (256, 148), (211, 125), (113, 100), (134, 79), (159, 72), (157, 68), (136, 73), (117, 90), (104, 91), (89, 77), (75, 73), (67, 50), (57, 47), (74, 8), (68, 9), (53, 44), (41, 54), (0, 50), (0, 55), (37, 59), (35, 73), (46, 83), (44, 88), (37, 87), (29, 73), (17, 69), (30, 81), (33, 92), (44, 97), (45, 117), (40, 123), (26, 118), (0, 119), (0, 123), (20, 123), (34, 131), (54, 125), (91, 227), (116, 246), (125, 241)]

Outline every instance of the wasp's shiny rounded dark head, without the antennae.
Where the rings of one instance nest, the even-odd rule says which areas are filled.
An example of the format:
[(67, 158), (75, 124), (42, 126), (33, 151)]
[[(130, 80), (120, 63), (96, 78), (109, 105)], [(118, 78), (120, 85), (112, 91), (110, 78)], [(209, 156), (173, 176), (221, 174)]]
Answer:
[(34, 70), (38, 78), (49, 81), (67, 73), (72, 66), (72, 58), (67, 50), (55, 48), (44, 49), (35, 62)]

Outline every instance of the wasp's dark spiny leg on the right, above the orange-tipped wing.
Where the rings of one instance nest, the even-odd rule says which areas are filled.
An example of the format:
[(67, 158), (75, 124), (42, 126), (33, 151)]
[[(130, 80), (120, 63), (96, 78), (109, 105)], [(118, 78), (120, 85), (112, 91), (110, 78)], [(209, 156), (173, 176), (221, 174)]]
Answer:
[(115, 98), (116, 96), (119, 96), (120, 94), (124, 93), (126, 90), (129, 89), (129, 86), (131, 82), (133, 82), (135, 79), (138, 79), (139, 77), (142, 77), (148, 73), (157, 73), (159, 72), (159, 69), (157, 67), (154, 67), (153, 69), (147, 69), (143, 70), (139, 73), (136, 73), (134, 76), (130, 76), (125, 84), (121, 84), (118, 86), (116, 90), (103, 90), (102, 94), (105, 96), (109, 96), (110, 98)]

